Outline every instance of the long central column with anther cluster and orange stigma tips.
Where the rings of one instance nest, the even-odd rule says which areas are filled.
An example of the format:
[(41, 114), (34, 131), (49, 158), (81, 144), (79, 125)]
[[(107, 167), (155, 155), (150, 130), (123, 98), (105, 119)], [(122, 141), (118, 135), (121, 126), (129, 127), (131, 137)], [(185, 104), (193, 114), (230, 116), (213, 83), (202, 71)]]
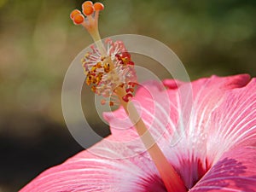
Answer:
[[(125, 49), (125, 45), (121, 41), (113, 42), (111, 39), (107, 39), (105, 42), (107, 49), (102, 44), (98, 32), (98, 15), (99, 11), (104, 9), (103, 4), (93, 4), (86, 1), (83, 3), (82, 9), (86, 16), (85, 19), (77, 9), (73, 10), (70, 17), (76, 25), (84, 26), (96, 43), (96, 47), (92, 46), (91, 51), (86, 53), (82, 59), (86, 84), (90, 85), (90, 89), (97, 95), (108, 98), (113, 96), (113, 99), (109, 99), (108, 102), (103, 99), (102, 105), (108, 103), (109, 106), (118, 104), (123, 106), (160, 172), (160, 177), (165, 183), (167, 191), (187, 191), (183, 180), (161, 152), (154, 141), (154, 137), (148, 131), (143, 119), (131, 102), (134, 88), (137, 85), (137, 76), (134, 62), (131, 61), (131, 54)], [(115, 96), (118, 97), (118, 102), (115, 101)]]

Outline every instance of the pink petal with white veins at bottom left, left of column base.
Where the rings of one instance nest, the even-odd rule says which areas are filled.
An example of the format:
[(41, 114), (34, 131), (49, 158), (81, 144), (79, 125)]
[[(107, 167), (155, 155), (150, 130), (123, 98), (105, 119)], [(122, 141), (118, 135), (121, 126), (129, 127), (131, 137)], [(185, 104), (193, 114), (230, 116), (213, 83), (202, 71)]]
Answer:
[[(107, 148), (104, 141), (93, 148), (102, 148), (102, 153), (106, 155), (119, 153)], [(41, 173), (20, 189), (20, 192), (26, 191), (165, 192), (166, 189), (151, 160), (143, 156), (106, 159), (84, 150), (60, 166)]]

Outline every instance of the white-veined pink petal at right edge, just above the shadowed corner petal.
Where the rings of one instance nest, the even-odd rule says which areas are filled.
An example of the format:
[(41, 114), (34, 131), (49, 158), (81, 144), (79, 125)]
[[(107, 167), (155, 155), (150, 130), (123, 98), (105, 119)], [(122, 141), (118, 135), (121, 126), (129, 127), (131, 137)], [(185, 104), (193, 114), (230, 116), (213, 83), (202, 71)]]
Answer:
[[(240, 79), (238, 81), (237, 79)], [(235, 76), (220, 86), (223, 94), (216, 96), (218, 108), (202, 117), (204, 130), (208, 131), (208, 157), (214, 162), (234, 146), (252, 143), (256, 136), (256, 79)], [(207, 115), (211, 115), (211, 119)], [(211, 121), (211, 122), (209, 122)], [(207, 123), (209, 122), (209, 123)], [(211, 162), (210, 162), (211, 163)]]

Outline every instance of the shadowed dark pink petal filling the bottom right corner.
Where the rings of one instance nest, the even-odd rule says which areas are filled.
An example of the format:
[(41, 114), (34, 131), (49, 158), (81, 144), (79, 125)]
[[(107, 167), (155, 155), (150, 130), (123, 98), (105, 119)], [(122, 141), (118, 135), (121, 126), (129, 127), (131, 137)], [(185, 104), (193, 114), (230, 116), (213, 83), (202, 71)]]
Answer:
[(255, 145), (225, 153), (189, 191), (256, 191)]

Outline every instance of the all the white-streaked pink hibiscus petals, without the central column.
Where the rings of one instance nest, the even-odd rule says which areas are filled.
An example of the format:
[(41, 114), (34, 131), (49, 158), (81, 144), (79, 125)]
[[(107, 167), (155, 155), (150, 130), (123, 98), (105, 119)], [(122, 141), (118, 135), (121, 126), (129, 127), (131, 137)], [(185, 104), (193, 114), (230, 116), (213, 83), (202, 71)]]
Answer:
[[(164, 84), (167, 90), (160, 90), (160, 84), (149, 82), (137, 91), (134, 99), (145, 110), (143, 120), (148, 125), (155, 102), (148, 90), (156, 92), (159, 108), (165, 104), (161, 97), (167, 91), (172, 113), (168, 116), (162, 112), (159, 125), (152, 131), (167, 129), (157, 143), (187, 189), (191, 192), (256, 191), (256, 79), (248, 75), (212, 76), (178, 85), (168, 79)], [(184, 130), (184, 137), (172, 146), (170, 138), (182, 125), (177, 120), (181, 112), (178, 90), (187, 84), (193, 89), (192, 115), (190, 119), (183, 119), (183, 124), (189, 127)], [(115, 117), (123, 117), (125, 110), (119, 108), (114, 113)], [(166, 118), (170, 121), (168, 126), (160, 123)], [(137, 137), (135, 129), (117, 129), (112, 113), (105, 113), (105, 119), (111, 125), (112, 135), (90, 148), (101, 156), (84, 150), (60, 166), (43, 172), (20, 191), (167, 191), (139, 140), (125, 147), (118, 144), (133, 141)], [(127, 154), (137, 155), (118, 159)], [(173, 181), (175, 178), (170, 180)]]

